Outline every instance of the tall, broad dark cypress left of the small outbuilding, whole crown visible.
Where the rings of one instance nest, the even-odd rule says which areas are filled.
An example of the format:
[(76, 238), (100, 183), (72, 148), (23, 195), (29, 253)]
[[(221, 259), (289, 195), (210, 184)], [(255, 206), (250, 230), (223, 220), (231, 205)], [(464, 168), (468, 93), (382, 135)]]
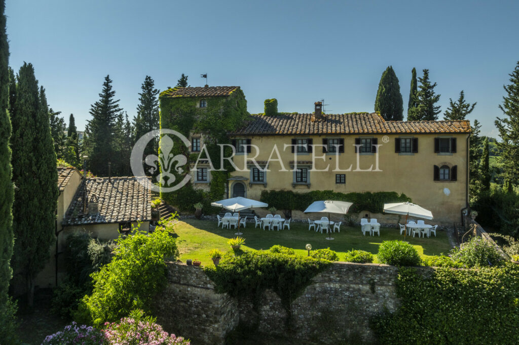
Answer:
[(58, 172), (45, 90), (38, 92), (31, 64), (24, 63), (18, 76), (15, 113), (11, 115), (13, 181), (17, 187), (13, 263), (15, 272), (26, 282), (32, 306), (36, 275), (49, 258), (54, 238)]

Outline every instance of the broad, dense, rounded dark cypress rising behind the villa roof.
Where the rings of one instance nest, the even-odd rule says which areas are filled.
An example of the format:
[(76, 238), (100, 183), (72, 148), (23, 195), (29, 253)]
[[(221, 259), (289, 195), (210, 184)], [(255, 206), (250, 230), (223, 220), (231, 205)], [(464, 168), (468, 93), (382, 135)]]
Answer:
[(402, 94), (392, 66), (386, 68), (378, 83), (375, 111), (378, 111), (386, 121), (402, 121), (403, 119)]

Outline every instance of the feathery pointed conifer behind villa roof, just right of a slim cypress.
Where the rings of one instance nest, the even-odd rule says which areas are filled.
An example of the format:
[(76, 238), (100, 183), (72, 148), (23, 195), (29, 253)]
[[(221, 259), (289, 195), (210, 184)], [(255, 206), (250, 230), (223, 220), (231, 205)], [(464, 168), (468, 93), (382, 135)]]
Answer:
[(436, 121), (441, 112), (440, 106), (434, 104), (440, 100), (440, 95), (434, 94), (436, 83), (429, 81), (429, 70), (424, 69), (424, 76), (418, 78), (420, 86), (416, 93), (416, 107), (411, 108), (407, 115), (408, 121)]

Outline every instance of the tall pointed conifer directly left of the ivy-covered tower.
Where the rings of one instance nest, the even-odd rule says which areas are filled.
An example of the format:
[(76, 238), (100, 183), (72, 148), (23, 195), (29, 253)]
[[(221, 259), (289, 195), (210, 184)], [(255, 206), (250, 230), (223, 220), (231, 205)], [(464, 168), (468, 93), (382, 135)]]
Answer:
[[(137, 116), (133, 118), (135, 140), (139, 140), (144, 134), (159, 128), (159, 90), (155, 89), (155, 81), (151, 77), (146, 76), (141, 85), (141, 90), (142, 92), (139, 93)], [(144, 154), (148, 155), (157, 151), (158, 141), (153, 140), (144, 150)]]

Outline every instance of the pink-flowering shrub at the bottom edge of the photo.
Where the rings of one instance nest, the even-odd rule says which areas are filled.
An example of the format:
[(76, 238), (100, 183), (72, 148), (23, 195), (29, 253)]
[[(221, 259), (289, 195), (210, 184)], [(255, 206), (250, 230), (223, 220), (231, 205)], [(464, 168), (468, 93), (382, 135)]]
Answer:
[(128, 318), (119, 323), (106, 322), (104, 329), (105, 340), (108, 344), (144, 345), (144, 344), (182, 344), (189, 345), (189, 340), (168, 334), (155, 318), (144, 317), (142, 310), (133, 310)]

